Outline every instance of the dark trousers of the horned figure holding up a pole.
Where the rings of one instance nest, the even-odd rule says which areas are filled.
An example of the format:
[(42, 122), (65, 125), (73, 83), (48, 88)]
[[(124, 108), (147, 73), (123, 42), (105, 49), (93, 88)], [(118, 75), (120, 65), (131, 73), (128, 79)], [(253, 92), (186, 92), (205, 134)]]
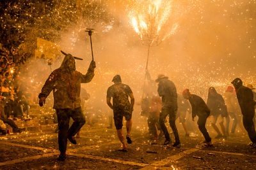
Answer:
[[(66, 152), (67, 150), (67, 138), (68, 136), (75, 136), (75, 134), (83, 127), (85, 124), (84, 114), (82, 113), (81, 108), (72, 109), (56, 109), (58, 117), (58, 142), (59, 150), (61, 153)], [(69, 127), (70, 117), (74, 120), (71, 127)]]

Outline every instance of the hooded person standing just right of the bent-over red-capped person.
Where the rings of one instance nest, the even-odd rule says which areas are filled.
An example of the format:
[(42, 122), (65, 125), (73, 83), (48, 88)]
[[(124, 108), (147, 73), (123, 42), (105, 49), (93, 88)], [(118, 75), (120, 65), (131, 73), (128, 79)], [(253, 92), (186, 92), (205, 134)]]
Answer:
[[(218, 133), (218, 135), (215, 138), (217, 139), (222, 137), (226, 138), (227, 136), (226, 136), (225, 126), (224, 126), (224, 117), (225, 118), (228, 117), (227, 106), (225, 104), (223, 97), (217, 93), (214, 87), (209, 88), (207, 106), (211, 110), (211, 115), (213, 117), (211, 125), (213, 129)], [(220, 127), (221, 127), (221, 131), (223, 132), (223, 136), (216, 125), (216, 122), (220, 115), (221, 115)], [(229, 122), (229, 121), (226, 120), (226, 122)]]

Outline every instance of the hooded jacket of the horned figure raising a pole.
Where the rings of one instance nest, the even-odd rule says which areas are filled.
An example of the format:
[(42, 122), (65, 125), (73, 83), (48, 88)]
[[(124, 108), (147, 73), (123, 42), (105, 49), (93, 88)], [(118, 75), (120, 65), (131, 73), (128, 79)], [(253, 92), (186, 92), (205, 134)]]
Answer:
[(83, 75), (76, 71), (75, 59), (72, 55), (65, 55), (60, 68), (52, 71), (45, 81), (40, 97), (47, 97), (53, 90), (54, 109), (75, 109), (81, 107), (81, 83), (88, 83), (94, 76), (94, 69), (89, 67)]

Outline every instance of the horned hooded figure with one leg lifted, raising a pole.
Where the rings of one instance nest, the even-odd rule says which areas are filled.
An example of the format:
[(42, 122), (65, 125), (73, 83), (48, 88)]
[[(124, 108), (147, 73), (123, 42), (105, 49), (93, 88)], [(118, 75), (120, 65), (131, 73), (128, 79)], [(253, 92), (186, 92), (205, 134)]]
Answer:
[[(52, 71), (49, 78), (46, 80), (42, 92), (39, 94), (39, 104), (45, 104), (45, 98), (53, 91), (54, 106), (58, 117), (58, 143), (60, 156), (58, 160), (66, 159), (67, 139), (76, 144), (74, 135), (85, 124), (85, 118), (81, 111), (80, 90), (81, 83), (88, 83), (94, 76), (95, 62), (90, 63), (87, 73), (84, 75), (76, 71), (75, 59), (71, 54), (65, 54), (65, 58), (60, 68)], [(69, 127), (70, 117), (74, 123)]]

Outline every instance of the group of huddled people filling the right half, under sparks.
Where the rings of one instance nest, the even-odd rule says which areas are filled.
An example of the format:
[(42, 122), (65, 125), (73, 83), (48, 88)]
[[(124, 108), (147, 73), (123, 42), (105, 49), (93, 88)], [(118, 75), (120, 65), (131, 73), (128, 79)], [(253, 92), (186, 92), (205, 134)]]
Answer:
[[(158, 89), (156, 88), (156, 83)], [(189, 129), (186, 123), (189, 122), (187, 115), (191, 113), (193, 121), (195, 121), (196, 116), (198, 117), (197, 124), (204, 135), (205, 146), (212, 146), (211, 138), (205, 128), (207, 118), (211, 117), (211, 127), (217, 133), (216, 139), (227, 139), (230, 134), (234, 135), (238, 125), (241, 131), (246, 130), (248, 132), (248, 136), (252, 141), (250, 146), (256, 147), (256, 93), (253, 92), (252, 85), (243, 86), (243, 81), (239, 78), (232, 81), (232, 84), (234, 87), (228, 86), (223, 96), (214, 87), (210, 87), (207, 102), (205, 103), (202, 97), (191, 94), (189, 89), (184, 90), (182, 96), (177, 94), (174, 83), (163, 74), (159, 74), (156, 82), (152, 81), (148, 76), (147, 87), (145, 88), (147, 89), (145, 90), (146, 97), (141, 102), (141, 115), (148, 117), (148, 130), (151, 138), (156, 139), (159, 134), (163, 133), (166, 139), (164, 145), (171, 143), (172, 140), (164, 124), (166, 117), (169, 116), (170, 127), (175, 136), (173, 146), (180, 147), (179, 133), (175, 120), (179, 118), (179, 122), (186, 133), (185, 136), (189, 137), (189, 131), (191, 132), (192, 128)], [(160, 97), (162, 101), (160, 101)], [(218, 120), (221, 130), (216, 124)], [(231, 130), (229, 129), (230, 120), (232, 120)], [(159, 129), (159, 134), (156, 129)]]

